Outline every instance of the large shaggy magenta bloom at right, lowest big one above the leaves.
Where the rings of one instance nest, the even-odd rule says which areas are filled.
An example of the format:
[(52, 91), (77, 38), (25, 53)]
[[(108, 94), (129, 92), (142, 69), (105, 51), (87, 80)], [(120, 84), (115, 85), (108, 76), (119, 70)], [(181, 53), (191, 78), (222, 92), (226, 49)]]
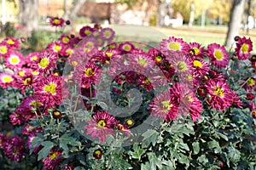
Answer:
[(224, 80), (211, 79), (205, 85), (207, 92), (210, 95), (207, 99), (211, 109), (218, 109), (224, 111), (224, 109), (232, 105), (232, 94), (227, 82)]

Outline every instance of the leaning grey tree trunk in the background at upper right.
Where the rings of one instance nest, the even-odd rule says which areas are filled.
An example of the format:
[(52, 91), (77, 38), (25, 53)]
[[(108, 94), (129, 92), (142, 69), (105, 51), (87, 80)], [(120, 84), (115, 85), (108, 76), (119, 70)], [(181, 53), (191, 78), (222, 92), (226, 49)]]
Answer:
[(246, 0), (234, 0), (231, 13), (229, 31), (226, 37), (225, 46), (230, 48), (232, 43), (235, 41), (234, 37), (239, 35), (241, 25), (241, 15), (243, 14)]

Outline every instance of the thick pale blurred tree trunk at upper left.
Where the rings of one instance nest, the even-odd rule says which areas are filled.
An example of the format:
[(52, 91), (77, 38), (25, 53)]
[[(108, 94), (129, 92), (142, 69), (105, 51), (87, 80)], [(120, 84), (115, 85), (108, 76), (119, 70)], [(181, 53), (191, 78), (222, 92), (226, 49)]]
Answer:
[(38, 0), (20, 0), (20, 24), (26, 27), (28, 36), (38, 28)]

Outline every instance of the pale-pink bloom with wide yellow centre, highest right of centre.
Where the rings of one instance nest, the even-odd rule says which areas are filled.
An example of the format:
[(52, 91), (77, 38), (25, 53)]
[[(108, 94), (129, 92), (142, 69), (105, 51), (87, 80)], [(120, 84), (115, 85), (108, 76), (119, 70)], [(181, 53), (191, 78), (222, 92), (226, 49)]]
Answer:
[(166, 56), (173, 53), (189, 54), (189, 45), (182, 38), (169, 37), (160, 42), (160, 52)]

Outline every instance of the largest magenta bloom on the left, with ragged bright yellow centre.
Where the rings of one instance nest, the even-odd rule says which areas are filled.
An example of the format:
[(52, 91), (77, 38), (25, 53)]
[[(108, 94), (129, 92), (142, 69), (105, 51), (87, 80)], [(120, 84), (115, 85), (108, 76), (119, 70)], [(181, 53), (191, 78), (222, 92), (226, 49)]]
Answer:
[(61, 104), (61, 77), (44, 77), (35, 82), (33, 87), (39, 102), (48, 106)]

